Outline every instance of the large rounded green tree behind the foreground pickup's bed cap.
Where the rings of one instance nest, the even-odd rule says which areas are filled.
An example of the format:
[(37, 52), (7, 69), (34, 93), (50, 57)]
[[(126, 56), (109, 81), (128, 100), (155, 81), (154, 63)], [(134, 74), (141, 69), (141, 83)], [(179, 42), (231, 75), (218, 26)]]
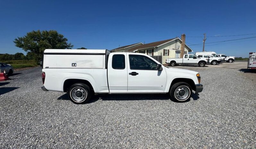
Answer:
[(16, 47), (22, 48), (26, 52), (32, 52), (36, 60), (42, 59), (45, 49), (71, 49), (73, 45), (67, 43), (67, 38), (55, 30), (31, 31), (23, 37), (14, 39)]

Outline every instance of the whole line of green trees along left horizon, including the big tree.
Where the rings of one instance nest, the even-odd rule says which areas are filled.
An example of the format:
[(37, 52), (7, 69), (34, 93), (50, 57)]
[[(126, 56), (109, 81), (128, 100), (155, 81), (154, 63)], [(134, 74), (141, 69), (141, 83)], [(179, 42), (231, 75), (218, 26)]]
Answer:
[[(73, 44), (67, 42), (68, 39), (64, 35), (59, 34), (55, 30), (49, 31), (31, 31), (22, 37), (14, 39), (14, 44), (27, 52), (25, 56), (23, 53), (16, 54), (0, 54), (0, 60), (21, 60), (21, 59), (35, 59), (40, 61), (43, 58), (45, 49), (71, 49)], [(78, 49), (86, 49), (84, 47)]]

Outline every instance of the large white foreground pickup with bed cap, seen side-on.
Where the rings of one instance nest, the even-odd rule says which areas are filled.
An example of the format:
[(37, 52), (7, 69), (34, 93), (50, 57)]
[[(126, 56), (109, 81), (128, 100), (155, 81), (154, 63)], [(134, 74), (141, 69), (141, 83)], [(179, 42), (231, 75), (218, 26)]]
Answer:
[(198, 72), (164, 67), (142, 53), (46, 49), (42, 68), (42, 90), (68, 92), (74, 103), (86, 103), (94, 93), (169, 93), (186, 101), (192, 90), (203, 90)]

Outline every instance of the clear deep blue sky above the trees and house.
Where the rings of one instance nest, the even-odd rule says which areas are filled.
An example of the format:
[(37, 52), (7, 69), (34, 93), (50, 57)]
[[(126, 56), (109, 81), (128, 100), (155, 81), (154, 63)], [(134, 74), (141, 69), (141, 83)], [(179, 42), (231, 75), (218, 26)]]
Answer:
[[(25, 52), (13, 40), (32, 30), (57, 30), (75, 48), (114, 49), (186, 34), (186, 44), (256, 36), (256, 1), (1, 1), (0, 53)], [(206, 51), (248, 57), (256, 38), (206, 44)], [(202, 51), (202, 45), (191, 46)]]

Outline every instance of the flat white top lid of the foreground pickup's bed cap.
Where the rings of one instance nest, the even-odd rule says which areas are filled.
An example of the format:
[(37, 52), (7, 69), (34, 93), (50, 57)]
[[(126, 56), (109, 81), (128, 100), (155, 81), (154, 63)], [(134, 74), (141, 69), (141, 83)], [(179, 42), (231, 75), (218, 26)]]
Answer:
[(94, 49), (45, 49), (44, 53), (102, 53), (106, 54), (106, 50), (94, 50)]

